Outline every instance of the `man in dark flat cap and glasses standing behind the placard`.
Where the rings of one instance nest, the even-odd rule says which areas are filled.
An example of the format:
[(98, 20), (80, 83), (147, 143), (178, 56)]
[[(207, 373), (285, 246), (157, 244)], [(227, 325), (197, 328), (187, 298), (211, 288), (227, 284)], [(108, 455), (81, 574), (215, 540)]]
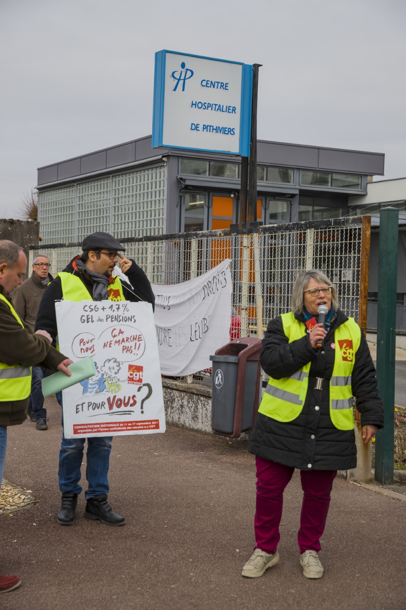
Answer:
[[(54, 344), (58, 335), (55, 301), (109, 299), (147, 301), (152, 307), (155, 304), (151, 285), (144, 271), (133, 260), (119, 254), (125, 248), (112, 235), (100, 231), (92, 233), (83, 240), (82, 249), (82, 256), (75, 256), (47, 287), (38, 310), (35, 329), (49, 332)], [(127, 276), (128, 284), (112, 275), (116, 264), (119, 264), (121, 271)], [(61, 393), (57, 394), (57, 400), (61, 404)], [(59, 489), (62, 493), (61, 508), (57, 515), (60, 525), (72, 525), (75, 521), (77, 497), (82, 491), (79, 481), (85, 440), (65, 439), (62, 434), (58, 468)], [(113, 512), (107, 501), (108, 467), (113, 437), (91, 437), (87, 440), (88, 489), (85, 491), (85, 518), (97, 519), (106, 525), (124, 525), (124, 517)]]

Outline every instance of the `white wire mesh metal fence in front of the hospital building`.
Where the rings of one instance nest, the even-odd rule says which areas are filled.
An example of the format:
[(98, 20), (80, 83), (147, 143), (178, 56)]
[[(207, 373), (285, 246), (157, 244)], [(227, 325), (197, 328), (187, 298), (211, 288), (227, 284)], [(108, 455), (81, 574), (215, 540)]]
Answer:
[[(368, 224), (369, 220), (369, 224)], [(233, 314), (240, 335), (261, 335), (267, 321), (289, 310), (299, 271), (324, 271), (337, 288), (341, 309), (366, 325), (369, 217), (284, 223), (122, 239), (152, 284), (178, 284), (231, 259)], [(53, 274), (81, 252), (81, 242), (30, 246), (51, 260)], [(359, 311), (365, 311), (359, 319)]]

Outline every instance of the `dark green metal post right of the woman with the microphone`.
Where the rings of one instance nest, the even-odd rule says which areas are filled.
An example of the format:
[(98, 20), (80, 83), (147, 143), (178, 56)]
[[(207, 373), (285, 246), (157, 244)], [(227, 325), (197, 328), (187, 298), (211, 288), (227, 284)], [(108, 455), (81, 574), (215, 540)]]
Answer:
[(379, 214), (378, 324), (376, 372), (383, 400), (384, 428), (376, 434), (375, 478), (393, 483), (394, 376), (396, 356), (396, 287), (399, 210), (386, 207)]

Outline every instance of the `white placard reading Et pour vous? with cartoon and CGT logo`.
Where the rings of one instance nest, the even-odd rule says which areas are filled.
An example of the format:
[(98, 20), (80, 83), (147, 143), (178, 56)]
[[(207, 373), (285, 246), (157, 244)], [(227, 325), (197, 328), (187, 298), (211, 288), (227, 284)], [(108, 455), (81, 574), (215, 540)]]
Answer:
[(63, 390), (68, 439), (165, 432), (156, 331), (150, 303), (55, 303), (61, 353), (91, 356), (96, 375)]

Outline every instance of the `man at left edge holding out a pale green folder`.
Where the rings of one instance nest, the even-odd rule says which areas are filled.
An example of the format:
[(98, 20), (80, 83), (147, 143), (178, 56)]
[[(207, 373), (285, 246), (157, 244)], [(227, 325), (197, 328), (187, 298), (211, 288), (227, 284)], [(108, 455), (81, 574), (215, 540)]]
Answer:
[[(23, 282), (27, 258), (19, 246), (0, 240), (0, 484), (3, 478), (7, 426), (25, 422), (31, 391), (31, 367), (63, 371), (72, 361), (51, 346), (46, 331), (34, 332), (24, 324), (9, 296)], [(0, 576), (0, 593), (16, 589), (18, 576)]]

